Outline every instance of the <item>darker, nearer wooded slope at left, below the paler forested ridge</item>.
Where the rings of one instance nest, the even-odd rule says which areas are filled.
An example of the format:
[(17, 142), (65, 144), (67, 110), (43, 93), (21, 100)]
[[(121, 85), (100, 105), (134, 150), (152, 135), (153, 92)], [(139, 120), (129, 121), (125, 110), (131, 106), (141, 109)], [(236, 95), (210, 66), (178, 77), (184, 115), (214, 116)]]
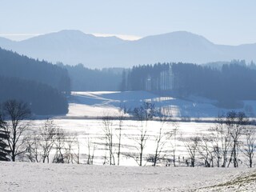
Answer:
[(34, 114), (66, 114), (66, 98), (51, 86), (21, 78), (0, 77), (0, 101), (25, 101)]

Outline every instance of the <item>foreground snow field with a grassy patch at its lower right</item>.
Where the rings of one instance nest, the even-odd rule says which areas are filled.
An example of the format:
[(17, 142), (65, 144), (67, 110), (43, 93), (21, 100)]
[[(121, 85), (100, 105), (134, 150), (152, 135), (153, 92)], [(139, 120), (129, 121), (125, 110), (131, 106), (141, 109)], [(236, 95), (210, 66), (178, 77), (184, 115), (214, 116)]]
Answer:
[[(255, 170), (0, 162), (0, 191), (255, 191)], [(220, 185), (223, 184), (223, 185)], [(219, 186), (218, 186), (219, 185)], [(210, 186), (210, 187), (209, 187)]]

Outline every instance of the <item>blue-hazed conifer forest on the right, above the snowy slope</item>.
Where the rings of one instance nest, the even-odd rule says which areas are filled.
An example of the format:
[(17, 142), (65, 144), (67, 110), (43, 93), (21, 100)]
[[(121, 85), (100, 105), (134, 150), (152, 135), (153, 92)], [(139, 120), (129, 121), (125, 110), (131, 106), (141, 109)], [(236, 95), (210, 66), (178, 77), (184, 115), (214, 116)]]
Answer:
[(256, 99), (256, 66), (233, 61), (222, 66), (163, 63), (134, 66), (122, 74), (122, 90), (171, 91), (179, 97), (192, 94), (215, 99), (223, 107)]

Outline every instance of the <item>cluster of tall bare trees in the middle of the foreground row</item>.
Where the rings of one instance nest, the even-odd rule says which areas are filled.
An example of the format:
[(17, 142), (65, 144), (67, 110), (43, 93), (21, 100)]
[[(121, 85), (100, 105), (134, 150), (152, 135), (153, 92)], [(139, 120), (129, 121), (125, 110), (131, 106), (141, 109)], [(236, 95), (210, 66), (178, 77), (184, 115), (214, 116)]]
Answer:
[[(102, 130), (106, 138), (106, 151), (109, 154), (104, 157), (104, 164), (109, 162), (110, 165), (115, 165), (115, 154), (117, 154), (119, 165), (122, 154), (123, 158), (133, 158), (138, 163), (138, 166), (144, 166), (147, 162), (152, 162), (153, 166), (156, 166), (159, 161), (165, 159), (166, 154), (164, 152), (166, 152), (165, 146), (167, 142), (172, 144), (171, 153), (174, 155), (175, 161), (176, 144), (174, 142), (177, 142), (178, 123), (171, 122), (174, 125), (171, 127), (174, 128), (166, 130), (165, 124), (170, 123), (170, 118), (163, 115), (161, 109), (158, 110), (154, 103), (151, 102), (143, 102), (142, 106), (134, 108), (133, 115), (138, 125), (134, 125), (134, 129), (130, 130), (129, 134), (122, 134), (122, 126), (125, 120), (124, 114), (119, 114), (118, 118), (110, 116), (102, 118)], [(118, 127), (114, 126), (114, 120), (118, 121), (116, 123)], [(154, 120), (160, 122), (158, 123), (160, 126), (155, 127), (157, 129), (156, 132), (154, 131), (155, 134), (150, 134), (148, 126)], [(122, 143), (123, 137), (128, 139), (130, 143), (133, 143), (132, 148), (135, 152), (127, 151), (127, 149), (126, 151), (121, 151), (121, 146), (124, 146)], [(170, 141), (170, 138), (174, 139)], [(149, 139), (154, 140), (154, 154), (145, 155), (144, 150)], [(116, 150), (118, 150), (117, 153), (115, 152)], [(170, 154), (170, 151), (168, 153)]]

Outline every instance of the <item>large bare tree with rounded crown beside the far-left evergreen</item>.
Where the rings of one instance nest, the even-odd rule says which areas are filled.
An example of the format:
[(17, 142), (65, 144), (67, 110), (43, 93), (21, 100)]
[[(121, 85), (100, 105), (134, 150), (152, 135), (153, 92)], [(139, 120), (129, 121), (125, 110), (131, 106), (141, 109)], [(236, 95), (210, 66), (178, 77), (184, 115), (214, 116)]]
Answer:
[(10, 137), (7, 141), (10, 147), (10, 158), (15, 162), (16, 157), (26, 151), (21, 150), (25, 142), (22, 138), (22, 134), (30, 126), (30, 122), (25, 121), (27, 118), (30, 118), (30, 109), (24, 102), (8, 100), (3, 103), (2, 110), (6, 119), (10, 120), (7, 121), (3, 127), (10, 133)]

